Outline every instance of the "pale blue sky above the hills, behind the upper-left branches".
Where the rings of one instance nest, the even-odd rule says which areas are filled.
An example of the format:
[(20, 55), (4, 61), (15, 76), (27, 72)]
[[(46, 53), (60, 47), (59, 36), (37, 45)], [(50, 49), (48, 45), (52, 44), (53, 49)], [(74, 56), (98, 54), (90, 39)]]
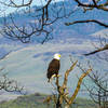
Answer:
[[(8, 3), (10, 0), (0, 0), (0, 3), (1, 2), (5, 2)], [(13, 0), (16, 4), (21, 4), (23, 0)], [(27, 3), (29, 0), (24, 0), (25, 3)], [(53, 1), (65, 1), (65, 0), (53, 0)], [(32, 4), (31, 5), (41, 5), (41, 4), (44, 4), (45, 3), (45, 0), (33, 0)], [(2, 3), (0, 4), (0, 16), (4, 15), (5, 14), (9, 14), (9, 13), (12, 13), (14, 12), (15, 10), (17, 10), (16, 8), (9, 8), (9, 6), (4, 6)]]

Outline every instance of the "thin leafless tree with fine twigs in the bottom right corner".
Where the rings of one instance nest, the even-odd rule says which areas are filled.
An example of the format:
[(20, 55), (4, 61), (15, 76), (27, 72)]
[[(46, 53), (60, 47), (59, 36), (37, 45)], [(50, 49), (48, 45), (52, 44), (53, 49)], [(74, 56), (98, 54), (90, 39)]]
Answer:
[(102, 76), (99, 72), (93, 72), (92, 81), (94, 85), (86, 87), (90, 97), (99, 108), (108, 108), (108, 73)]

